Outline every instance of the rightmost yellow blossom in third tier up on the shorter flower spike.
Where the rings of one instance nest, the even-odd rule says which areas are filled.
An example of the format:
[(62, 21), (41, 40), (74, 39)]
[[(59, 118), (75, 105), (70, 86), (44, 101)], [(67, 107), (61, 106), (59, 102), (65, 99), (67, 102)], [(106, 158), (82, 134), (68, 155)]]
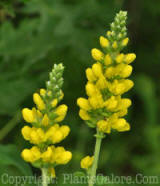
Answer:
[(64, 120), (67, 110), (68, 107), (65, 104), (58, 106), (55, 111), (55, 113), (58, 115), (58, 117), (55, 119), (55, 122), (60, 122)]

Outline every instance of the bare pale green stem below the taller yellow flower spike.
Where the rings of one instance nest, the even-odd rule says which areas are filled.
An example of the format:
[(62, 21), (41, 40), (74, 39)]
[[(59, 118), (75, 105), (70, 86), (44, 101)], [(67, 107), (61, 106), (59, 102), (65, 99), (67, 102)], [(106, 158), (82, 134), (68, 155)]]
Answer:
[(96, 171), (97, 171), (97, 167), (98, 167), (98, 160), (99, 160), (102, 138), (104, 137), (103, 133), (99, 132), (98, 130), (97, 130), (97, 134), (95, 136), (96, 136), (96, 145), (95, 145), (95, 152), (94, 152), (94, 160), (93, 160), (93, 165), (91, 167), (88, 186), (94, 185), (94, 180), (96, 178)]

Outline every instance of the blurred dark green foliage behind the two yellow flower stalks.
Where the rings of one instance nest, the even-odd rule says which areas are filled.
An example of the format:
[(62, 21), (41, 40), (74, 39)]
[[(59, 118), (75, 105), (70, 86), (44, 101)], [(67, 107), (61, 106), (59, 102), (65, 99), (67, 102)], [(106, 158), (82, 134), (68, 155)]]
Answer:
[[(76, 99), (85, 95), (85, 69), (93, 63), (90, 50), (99, 47), (99, 36), (120, 9), (128, 11), (130, 44), (125, 52), (137, 54), (135, 86), (127, 95), (133, 101), (128, 115), (132, 130), (105, 138), (98, 172), (160, 175), (160, 1), (156, 0), (0, 0), (0, 175), (40, 175), (20, 157), (20, 151), (29, 147), (21, 136), (20, 110), (33, 106), (32, 93), (45, 86), (54, 63), (66, 67), (63, 102), (69, 112), (64, 123), (72, 132), (63, 145), (73, 152), (72, 162), (56, 170), (58, 177), (79, 171), (80, 159), (93, 153), (94, 130), (80, 120)], [(61, 179), (57, 185), (62, 185)]]

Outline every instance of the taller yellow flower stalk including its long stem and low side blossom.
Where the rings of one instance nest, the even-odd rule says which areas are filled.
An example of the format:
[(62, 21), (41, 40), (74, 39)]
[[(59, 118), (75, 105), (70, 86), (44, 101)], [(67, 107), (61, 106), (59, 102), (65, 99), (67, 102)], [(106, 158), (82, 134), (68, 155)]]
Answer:
[(131, 106), (131, 100), (122, 98), (122, 94), (134, 85), (133, 81), (127, 78), (132, 73), (130, 63), (135, 60), (136, 55), (121, 53), (129, 41), (126, 18), (127, 12), (120, 11), (106, 36), (100, 37), (102, 51), (92, 49), (91, 54), (96, 62), (86, 70), (88, 99), (77, 100), (80, 117), (97, 131), (94, 156), (81, 160), (81, 167), (86, 169), (90, 176), (89, 186), (94, 185), (102, 138), (112, 130), (130, 130), (129, 123), (123, 117)]

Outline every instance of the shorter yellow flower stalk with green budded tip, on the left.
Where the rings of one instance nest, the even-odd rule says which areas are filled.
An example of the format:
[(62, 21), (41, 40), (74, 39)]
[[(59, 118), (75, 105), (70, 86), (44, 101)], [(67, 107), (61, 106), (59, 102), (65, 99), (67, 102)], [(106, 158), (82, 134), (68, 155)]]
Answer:
[(57, 165), (67, 164), (72, 158), (72, 153), (64, 147), (55, 146), (70, 132), (67, 125), (58, 124), (67, 113), (66, 105), (58, 106), (63, 99), (63, 70), (62, 64), (55, 64), (49, 74), (46, 89), (40, 89), (40, 93), (33, 94), (36, 107), (22, 110), (24, 120), (30, 124), (22, 128), (22, 135), (33, 147), (24, 149), (21, 155), (25, 161), (42, 170), (43, 186), (48, 185), (49, 177), (55, 177), (54, 168)]

